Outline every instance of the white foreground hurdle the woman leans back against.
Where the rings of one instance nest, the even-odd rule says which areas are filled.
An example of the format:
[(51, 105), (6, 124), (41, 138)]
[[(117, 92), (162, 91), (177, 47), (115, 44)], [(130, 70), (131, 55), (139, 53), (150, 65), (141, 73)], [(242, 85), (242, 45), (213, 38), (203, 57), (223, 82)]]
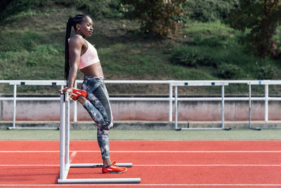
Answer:
[[(132, 163), (116, 163), (118, 166), (132, 167)], [(70, 168), (102, 168), (102, 163), (74, 163), (70, 164), (70, 101), (68, 94), (60, 93), (60, 178), (59, 184), (69, 183), (140, 183), (141, 178), (91, 178), (67, 179)]]

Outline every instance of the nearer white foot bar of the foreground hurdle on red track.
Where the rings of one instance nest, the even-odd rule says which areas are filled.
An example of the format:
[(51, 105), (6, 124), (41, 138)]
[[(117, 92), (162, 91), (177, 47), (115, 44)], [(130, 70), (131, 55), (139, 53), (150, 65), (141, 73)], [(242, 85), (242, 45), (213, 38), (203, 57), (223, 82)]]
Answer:
[(136, 184), (141, 183), (141, 178), (93, 178), (93, 179), (58, 179), (58, 184), (76, 184), (76, 183), (89, 183), (89, 184)]

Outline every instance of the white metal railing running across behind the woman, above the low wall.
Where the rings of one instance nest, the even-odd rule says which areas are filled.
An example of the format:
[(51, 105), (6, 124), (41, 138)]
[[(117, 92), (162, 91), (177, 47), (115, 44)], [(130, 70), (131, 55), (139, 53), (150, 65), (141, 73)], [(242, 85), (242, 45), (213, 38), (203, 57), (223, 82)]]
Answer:
[[(83, 80), (77, 80), (77, 84), (81, 84)], [(0, 84), (13, 85), (13, 97), (0, 97), (0, 101), (13, 101), (13, 127), (15, 127), (16, 117), (16, 102), (17, 101), (59, 101), (60, 97), (17, 97), (17, 85), (54, 85), (60, 86), (61, 89), (65, 87), (64, 80), (0, 80)], [(268, 121), (268, 101), (281, 101), (281, 97), (269, 97), (268, 85), (281, 84), (281, 80), (105, 80), (105, 84), (169, 84), (169, 97), (110, 97), (110, 101), (169, 101), (169, 122), (172, 121), (173, 102), (175, 101), (222, 101), (222, 124), (224, 123), (224, 101), (249, 101), (249, 108), (251, 108), (251, 101), (265, 101), (265, 121)], [(224, 97), (224, 86), (229, 84), (248, 84), (249, 97)], [(264, 97), (251, 97), (251, 85), (260, 84), (265, 86)], [(178, 86), (218, 86), (222, 87), (221, 97), (192, 97), (184, 98), (177, 97)], [(173, 96), (173, 88), (175, 88), (175, 97)], [(175, 105), (175, 112), (177, 113), (177, 105)], [(177, 120), (177, 114), (175, 114)], [(250, 117), (249, 117), (250, 118)], [(77, 122), (77, 101), (74, 101), (74, 122)]]

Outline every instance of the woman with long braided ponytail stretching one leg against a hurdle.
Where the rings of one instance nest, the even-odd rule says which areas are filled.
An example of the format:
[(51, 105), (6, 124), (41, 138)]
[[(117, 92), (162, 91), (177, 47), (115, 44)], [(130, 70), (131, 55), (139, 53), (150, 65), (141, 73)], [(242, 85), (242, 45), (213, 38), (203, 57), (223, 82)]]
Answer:
[[(72, 27), (75, 34), (70, 37)], [(93, 35), (93, 20), (89, 15), (79, 14), (69, 18), (65, 36), (67, 89), (64, 89), (64, 92), (67, 92), (72, 99), (78, 100), (98, 125), (98, 145), (103, 158), (102, 172), (123, 173), (126, 171), (125, 167), (118, 167), (110, 161), (108, 130), (113, 127), (112, 111), (97, 51), (86, 41), (86, 37), (91, 35)], [(78, 69), (84, 74), (81, 89), (86, 92), (73, 88)]]

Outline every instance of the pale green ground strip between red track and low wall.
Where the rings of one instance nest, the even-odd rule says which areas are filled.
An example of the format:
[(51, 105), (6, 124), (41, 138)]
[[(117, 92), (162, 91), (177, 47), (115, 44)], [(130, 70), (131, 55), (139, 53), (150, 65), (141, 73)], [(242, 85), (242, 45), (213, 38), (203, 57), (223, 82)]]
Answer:
[[(110, 130), (110, 140), (280, 140), (281, 130)], [(58, 130), (0, 130), (1, 140), (59, 140)], [(96, 130), (70, 130), (72, 140), (96, 140)]]

